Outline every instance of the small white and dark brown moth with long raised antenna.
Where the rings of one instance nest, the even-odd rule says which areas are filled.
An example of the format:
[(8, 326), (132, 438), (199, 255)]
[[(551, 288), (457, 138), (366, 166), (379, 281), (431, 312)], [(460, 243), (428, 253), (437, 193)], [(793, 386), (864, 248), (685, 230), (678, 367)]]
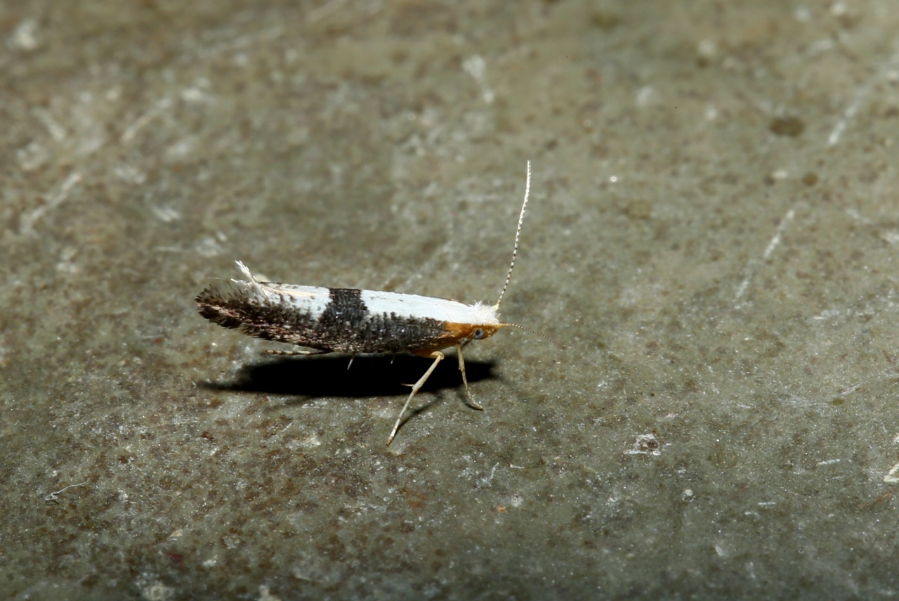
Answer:
[[(530, 193), (530, 161), (524, 188), (524, 202), (515, 230), (512, 262), (503, 291), (494, 305), (458, 301), (418, 294), (322, 288), (292, 283), (260, 282), (246, 265), (237, 267), (246, 280), (231, 280), (209, 285), (196, 298), (200, 315), (219, 326), (240, 330), (246, 335), (303, 346), (307, 350), (268, 351), (270, 354), (411, 353), (433, 359), (433, 363), (412, 386), (405, 405), (387, 437), (393, 441), (415, 393), (422, 388), (438, 363), (445, 358), (441, 349), (455, 346), (458, 369), (468, 403), (483, 409), (468, 391), (462, 345), (493, 336), (502, 327), (519, 327), (535, 334), (530, 327), (503, 323), (500, 303), (509, 287), (512, 268), (518, 255), (521, 222)], [(542, 335), (540, 335), (542, 336)], [(349, 369), (349, 368), (348, 368)]]

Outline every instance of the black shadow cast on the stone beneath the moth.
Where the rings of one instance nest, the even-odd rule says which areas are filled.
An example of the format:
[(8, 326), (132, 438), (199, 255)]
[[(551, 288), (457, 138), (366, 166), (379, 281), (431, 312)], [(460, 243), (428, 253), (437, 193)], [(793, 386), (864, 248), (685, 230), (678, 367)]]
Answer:
[[(431, 366), (432, 359), (413, 355), (357, 356), (350, 369), (345, 354), (280, 357), (245, 365), (233, 381), (201, 382), (209, 390), (263, 392), (265, 394), (320, 397), (378, 397), (405, 395)], [(494, 377), (494, 361), (466, 361), (468, 385)], [(442, 389), (462, 389), (458, 360), (449, 355), (428, 378), (418, 394)], [(464, 394), (464, 393), (463, 393)], [(417, 397), (418, 395), (416, 395)]]

